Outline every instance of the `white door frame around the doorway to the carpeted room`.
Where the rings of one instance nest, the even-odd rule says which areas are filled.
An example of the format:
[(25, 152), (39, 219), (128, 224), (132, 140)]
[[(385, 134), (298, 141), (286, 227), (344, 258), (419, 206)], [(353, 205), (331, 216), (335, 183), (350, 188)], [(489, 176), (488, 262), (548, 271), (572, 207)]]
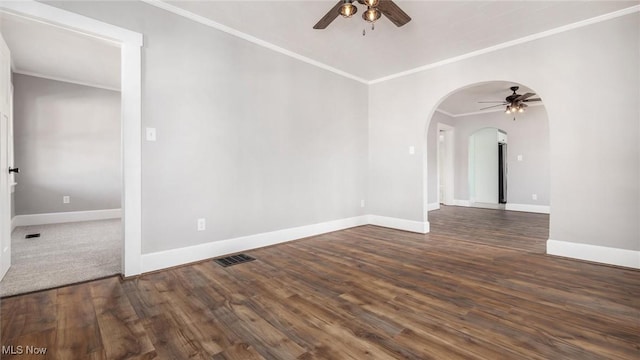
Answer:
[[(0, 11), (111, 40), (120, 45), (122, 128), (122, 274), (142, 271), (142, 59), (140, 33), (33, 0), (1, 2)], [(9, 215), (10, 216), (10, 215)]]

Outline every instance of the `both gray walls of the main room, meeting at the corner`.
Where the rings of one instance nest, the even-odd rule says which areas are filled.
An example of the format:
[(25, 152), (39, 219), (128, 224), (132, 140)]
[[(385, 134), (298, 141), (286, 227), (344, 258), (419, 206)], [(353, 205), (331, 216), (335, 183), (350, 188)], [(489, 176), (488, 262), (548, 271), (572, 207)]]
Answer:
[(53, 4), (145, 34), (144, 253), (358, 215), (367, 185), (367, 213), (424, 221), (433, 111), (493, 80), (545, 99), (550, 238), (640, 249), (637, 13), (367, 87), (145, 4)]

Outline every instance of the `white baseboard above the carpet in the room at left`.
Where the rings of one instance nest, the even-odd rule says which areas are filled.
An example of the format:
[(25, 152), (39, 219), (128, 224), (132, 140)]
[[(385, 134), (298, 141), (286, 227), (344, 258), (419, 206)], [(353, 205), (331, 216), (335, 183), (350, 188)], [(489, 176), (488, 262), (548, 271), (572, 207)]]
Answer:
[(69, 211), (60, 213), (16, 215), (11, 220), (12, 228), (45, 224), (60, 224), (78, 221), (118, 219), (122, 217), (121, 209)]

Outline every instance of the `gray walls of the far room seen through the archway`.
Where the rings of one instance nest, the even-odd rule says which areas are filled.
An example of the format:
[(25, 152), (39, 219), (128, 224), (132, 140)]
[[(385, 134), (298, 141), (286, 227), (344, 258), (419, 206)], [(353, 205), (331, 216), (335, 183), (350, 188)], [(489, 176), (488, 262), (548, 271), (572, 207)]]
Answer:
[[(534, 89), (535, 90), (535, 89)], [(531, 106), (525, 113), (513, 115), (491, 112), (461, 117), (450, 117), (435, 112), (429, 124), (429, 202), (437, 199), (437, 123), (455, 128), (455, 180), (454, 198), (469, 199), (469, 136), (493, 127), (507, 133), (508, 188), (507, 202), (525, 205), (550, 205), (549, 120), (544, 106)], [(522, 155), (522, 161), (517, 156)], [(531, 195), (538, 195), (533, 200)], [(434, 200), (431, 200), (434, 199)]]

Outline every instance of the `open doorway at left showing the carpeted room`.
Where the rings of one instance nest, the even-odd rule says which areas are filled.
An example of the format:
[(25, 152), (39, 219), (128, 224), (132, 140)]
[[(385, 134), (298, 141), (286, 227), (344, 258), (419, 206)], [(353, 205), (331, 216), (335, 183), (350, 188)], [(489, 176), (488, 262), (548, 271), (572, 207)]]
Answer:
[(1, 16), (22, 171), (12, 184), (12, 265), (0, 296), (120, 274), (120, 47)]

